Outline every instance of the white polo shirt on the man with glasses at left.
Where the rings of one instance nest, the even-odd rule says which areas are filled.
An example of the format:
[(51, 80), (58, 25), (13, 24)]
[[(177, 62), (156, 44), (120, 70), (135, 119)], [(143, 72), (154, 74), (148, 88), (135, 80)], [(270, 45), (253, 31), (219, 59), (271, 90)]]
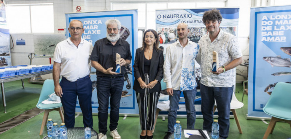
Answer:
[(90, 55), (92, 43), (82, 39), (77, 47), (70, 38), (63, 40), (55, 47), (53, 61), (61, 63), (61, 76), (69, 81), (76, 81), (90, 73)]

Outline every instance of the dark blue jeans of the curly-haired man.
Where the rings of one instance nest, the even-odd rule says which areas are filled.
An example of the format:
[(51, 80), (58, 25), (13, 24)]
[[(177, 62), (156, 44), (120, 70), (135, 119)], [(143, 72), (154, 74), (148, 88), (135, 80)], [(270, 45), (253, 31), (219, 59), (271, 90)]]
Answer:
[(201, 112), (203, 115), (203, 130), (211, 132), (213, 123), (214, 99), (218, 111), (219, 136), (228, 137), (230, 101), (233, 94), (232, 87), (208, 87), (200, 86)]

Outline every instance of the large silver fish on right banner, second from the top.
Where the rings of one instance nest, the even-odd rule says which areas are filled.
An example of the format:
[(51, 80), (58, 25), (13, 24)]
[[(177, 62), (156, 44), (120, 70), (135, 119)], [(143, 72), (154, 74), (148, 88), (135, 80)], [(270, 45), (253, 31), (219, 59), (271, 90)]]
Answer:
[(290, 58), (281, 58), (281, 55), (274, 56), (265, 56), (263, 60), (271, 64), (272, 67), (291, 67)]

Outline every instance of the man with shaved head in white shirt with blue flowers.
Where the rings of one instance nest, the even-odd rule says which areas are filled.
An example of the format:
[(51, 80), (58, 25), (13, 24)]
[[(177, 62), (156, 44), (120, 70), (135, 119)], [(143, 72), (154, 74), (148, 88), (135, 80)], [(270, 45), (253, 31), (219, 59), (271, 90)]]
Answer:
[(196, 119), (194, 100), (197, 83), (194, 63), (199, 45), (187, 38), (189, 33), (187, 24), (180, 23), (177, 27), (177, 33), (179, 40), (167, 47), (164, 63), (164, 82), (167, 84), (166, 91), (170, 96), (168, 132), (166, 132), (164, 139), (168, 139), (174, 133), (181, 91), (183, 91), (185, 97), (187, 128), (194, 129)]

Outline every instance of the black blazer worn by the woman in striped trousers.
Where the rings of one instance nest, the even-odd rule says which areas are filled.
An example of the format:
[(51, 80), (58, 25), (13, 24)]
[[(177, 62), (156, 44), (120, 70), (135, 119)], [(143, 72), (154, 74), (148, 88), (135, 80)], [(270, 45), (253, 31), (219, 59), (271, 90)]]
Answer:
[[(158, 80), (158, 83), (150, 89), (150, 93), (159, 92), (161, 91), (162, 87), (160, 81), (163, 79), (163, 66), (164, 66), (164, 55), (163, 50), (156, 50), (154, 48), (152, 52), (152, 60), (150, 65), (150, 78), (149, 83), (154, 81), (155, 79)], [(144, 89), (141, 89), (139, 85), (139, 77), (143, 81), (145, 81), (144, 77), (144, 50), (141, 48), (136, 49), (135, 58), (134, 58), (134, 65), (133, 65), (133, 73), (134, 73), (134, 83), (133, 83), (133, 90), (139, 93), (144, 93)]]

